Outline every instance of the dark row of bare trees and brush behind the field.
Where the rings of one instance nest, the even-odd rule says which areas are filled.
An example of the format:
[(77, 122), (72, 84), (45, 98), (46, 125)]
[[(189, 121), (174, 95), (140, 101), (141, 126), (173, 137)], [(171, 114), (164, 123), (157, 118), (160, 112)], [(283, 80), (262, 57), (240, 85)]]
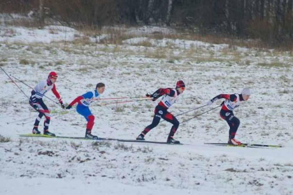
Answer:
[(0, 11), (28, 13), (67, 25), (183, 27), (270, 44), (292, 44), (293, 0), (2, 0)]

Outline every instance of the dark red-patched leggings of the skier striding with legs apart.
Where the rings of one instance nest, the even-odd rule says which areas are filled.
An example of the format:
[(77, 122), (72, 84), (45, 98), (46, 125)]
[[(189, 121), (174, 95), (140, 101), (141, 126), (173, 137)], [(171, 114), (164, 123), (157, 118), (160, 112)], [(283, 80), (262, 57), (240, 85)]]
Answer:
[(157, 105), (155, 108), (155, 115), (153, 118), (153, 122), (142, 131), (142, 134), (145, 135), (151, 129), (156, 127), (159, 124), (161, 118), (168, 121), (168, 122), (171, 122), (173, 124), (173, 126), (171, 127), (171, 131), (169, 133), (168, 138), (173, 137), (179, 127), (179, 121), (171, 113), (169, 113), (167, 111), (167, 108), (164, 108), (159, 105)]

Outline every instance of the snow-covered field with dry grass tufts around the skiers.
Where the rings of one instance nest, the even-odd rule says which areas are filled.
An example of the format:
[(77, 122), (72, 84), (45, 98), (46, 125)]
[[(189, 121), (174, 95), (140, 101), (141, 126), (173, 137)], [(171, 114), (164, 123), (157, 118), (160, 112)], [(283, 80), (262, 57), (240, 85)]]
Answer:
[[(18, 134), (31, 132), (37, 113), (1, 70), (1, 195), (293, 194), (292, 52), (144, 36), (154, 31), (174, 33), (168, 29), (124, 31), (132, 37), (121, 44), (99, 43), (108, 34), (87, 37), (87, 44), (80, 44), (82, 33), (67, 27), (0, 26), (0, 66), (32, 87), (56, 71), (57, 90), (66, 104), (98, 82), (106, 85), (102, 98), (113, 98), (144, 96), (160, 87), (174, 87), (182, 79), (186, 90), (169, 109), (174, 115), (200, 107), (220, 93), (250, 87), (251, 98), (235, 111), (241, 121), (236, 138), (285, 147), (204, 145), (228, 140), (220, 108), (180, 124), (175, 138), (188, 145), (21, 138)], [(29, 87), (16, 83), (30, 95)], [(46, 95), (57, 101), (52, 92)], [(75, 109), (63, 112), (54, 102), (46, 98), (44, 102), (53, 115), (51, 132), (84, 136), (86, 122)], [(151, 123), (156, 103), (97, 101), (91, 106), (96, 116), (92, 133), (135, 139)], [(166, 141), (170, 128), (168, 122), (161, 122), (145, 138)]]

